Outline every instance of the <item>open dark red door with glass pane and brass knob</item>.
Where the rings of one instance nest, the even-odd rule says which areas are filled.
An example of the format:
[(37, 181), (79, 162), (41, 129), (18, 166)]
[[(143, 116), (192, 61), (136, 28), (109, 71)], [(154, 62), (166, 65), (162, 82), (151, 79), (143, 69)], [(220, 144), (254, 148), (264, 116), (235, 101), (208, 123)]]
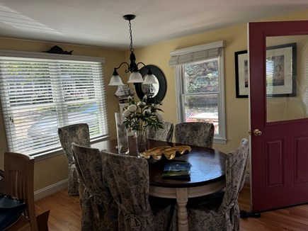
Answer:
[(251, 210), (308, 202), (308, 21), (249, 23)]

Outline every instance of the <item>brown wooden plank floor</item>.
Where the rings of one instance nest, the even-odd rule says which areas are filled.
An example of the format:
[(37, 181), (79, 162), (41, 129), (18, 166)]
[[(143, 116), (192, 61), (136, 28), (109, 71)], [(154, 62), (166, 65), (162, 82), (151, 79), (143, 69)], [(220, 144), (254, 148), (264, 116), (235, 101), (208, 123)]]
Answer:
[[(35, 202), (36, 213), (50, 210), (50, 231), (80, 230), (81, 209), (78, 196), (68, 196), (67, 190), (59, 191)], [(249, 185), (239, 194), (240, 210), (249, 211)], [(241, 230), (308, 230), (308, 204), (261, 213), (261, 218), (241, 218)], [(95, 230), (93, 230), (95, 231)]]

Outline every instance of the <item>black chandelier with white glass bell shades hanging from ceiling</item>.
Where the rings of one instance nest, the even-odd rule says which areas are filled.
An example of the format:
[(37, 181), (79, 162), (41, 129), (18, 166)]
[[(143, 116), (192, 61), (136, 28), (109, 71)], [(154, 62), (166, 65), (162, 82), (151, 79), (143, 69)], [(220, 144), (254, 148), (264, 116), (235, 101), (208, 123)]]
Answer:
[[(132, 21), (134, 18), (136, 18), (133, 14), (127, 14), (123, 16), (125, 20), (128, 21), (128, 26), (130, 28), (130, 64), (128, 62), (122, 62), (119, 67), (115, 67), (113, 71), (113, 76), (110, 79), (109, 86), (121, 86), (125, 85), (122, 82), (121, 77), (119, 76), (117, 70), (122, 67), (122, 65), (127, 65), (127, 69), (125, 69), (125, 73), (131, 72), (130, 79), (128, 79), (127, 83), (142, 83), (142, 84), (156, 84), (156, 78), (151, 72), (151, 69), (147, 67), (143, 62), (136, 63), (136, 57), (134, 54), (134, 48), (132, 47), (132, 24), (130, 21)], [(147, 75), (142, 78), (142, 75), (139, 73), (138, 65), (143, 64), (144, 67), (147, 67), (148, 72)]]

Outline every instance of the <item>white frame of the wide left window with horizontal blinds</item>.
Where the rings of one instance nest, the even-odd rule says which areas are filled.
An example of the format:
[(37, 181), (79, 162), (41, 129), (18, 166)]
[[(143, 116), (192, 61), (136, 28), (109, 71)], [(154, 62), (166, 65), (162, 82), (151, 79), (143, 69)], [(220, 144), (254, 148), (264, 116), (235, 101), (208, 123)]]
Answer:
[[(100, 98), (100, 101), (103, 103), (103, 105), (101, 105), (97, 110), (97, 114), (96, 115), (100, 115), (100, 116), (103, 116), (103, 119), (101, 121), (103, 121), (104, 123), (106, 123), (105, 125), (103, 125), (103, 127), (101, 127), (101, 135), (98, 135), (96, 137), (91, 137), (91, 143), (93, 142), (99, 142), (101, 140), (106, 140), (109, 136), (108, 134), (108, 114), (106, 113), (106, 108), (107, 108), (107, 103), (106, 103), (106, 100), (105, 100), (105, 84), (104, 84), (104, 81), (103, 81), (103, 64), (105, 63), (105, 58), (103, 57), (86, 57), (86, 56), (79, 56), (79, 55), (58, 55), (58, 54), (50, 54), (50, 53), (40, 53), (40, 52), (21, 52), (21, 51), (13, 51), (13, 50), (0, 50), (0, 57), (17, 57), (17, 58), (27, 58), (27, 59), (33, 59), (33, 60), (37, 60), (37, 59), (42, 59), (42, 60), (50, 60), (50, 62), (52, 62), (52, 60), (59, 60), (59, 62), (61, 61), (67, 61), (67, 62), (97, 62), (97, 63), (101, 63), (101, 74), (99, 74), (98, 77), (100, 77), (100, 81), (101, 81), (101, 86), (103, 89), (101, 89), (100, 91), (102, 91), (101, 93), (101, 97)], [(95, 81), (95, 79), (93, 79)], [(61, 79), (59, 81), (62, 81)], [(1, 81), (2, 82), (2, 81)], [(2, 86), (1, 86), (2, 88)], [(54, 86), (52, 87), (53, 90), (55, 91), (59, 91), (61, 89), (59, 88), (54, 88)], [(63, 89), (62, 89), (63, 90)], [(61, 91), (62, 91), (61, 90)], [(98, 91), (97, 89), (97, 86), (94, 85), (94, 91)], [(1, 98), (1, 111), (2, 111), (2, 114), (4, 116), (4, 108), (2, 106), (2, 101), (6, 101), (6, 94), (4, 93), (2, 96), (4, 96), (4, 98)], [(97, 96), (96, 96), (97, 97)], [(54, 98), (53, 98), (54, 100)], [(89, 101), (89, 100), (88, 100)], [(87, 100), (84, 101), (84, 103), (87, 103), (88, 102)], [(57, 102), (58, 103), (58, 102)], [(88, 102), (89, 103), (89, 102)], [(65, 106), (67, 103), (64, 102), (64, 105)], [(27, 106), (26, 106), (27, 107)], [(29, 108), (30, 106), (28, 106)], [(101, 114), (101, 112), (103, 112), (103, 114)], [(60, 116), (59, 116), (60, 117)], [(65, 116), (67, 117), (67, 116)], [(65, 121), (64, 120), (57, 120), (59, 124), (61, 125), (69, 125), (70, 123), (67, 123), (67, 124), (64, 124)], [(82, 120), (81, 120), (81, 123)], [(4, 131), (6, 133), (6, 123), (5, 123), (5, 120), (4, 120)], [(8, 144), (8, 140), (7, 140), (7, 133), (6, 133), (6, 142)], [(61, 145), (55, 145), (57, 147), (54, 147), (52, 146), (50, 148), (50, 150), (47, 150), (45, 152), (37, 152), (37, 153), (33, 153), (33, 154), (29, 154), (30, 156), (33, 156), (37, 159), (37, 157), (39, 157), (39, 159), (45, 159), (47, 157), (51, 157), (53, 155), (56, 155), (56, 154), (61, 154), (61, 150), (62, 150), (62, 147)], [(8, 149), (10, 149), (10, 146), (8, 145)], [(10, 150), (12, 152), (18, 152), (17, 150)], [(21, 152), (21, 151), (19, 151)]]

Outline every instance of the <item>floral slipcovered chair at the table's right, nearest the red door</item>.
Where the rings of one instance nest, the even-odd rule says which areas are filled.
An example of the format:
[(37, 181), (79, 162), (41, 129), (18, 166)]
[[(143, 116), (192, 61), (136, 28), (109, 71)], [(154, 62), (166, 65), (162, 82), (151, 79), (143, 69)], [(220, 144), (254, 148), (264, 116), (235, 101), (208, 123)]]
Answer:
[(239, 230), (240, 214), (237, 199), (239, 191), (244, 186), (248, 155), (249, 142), (243, 138), (240, 146), (227, 154), (224, 193), (205, 196), (203, 201), (199, 200), (198, 203), (188, 201), (189, 230)]

